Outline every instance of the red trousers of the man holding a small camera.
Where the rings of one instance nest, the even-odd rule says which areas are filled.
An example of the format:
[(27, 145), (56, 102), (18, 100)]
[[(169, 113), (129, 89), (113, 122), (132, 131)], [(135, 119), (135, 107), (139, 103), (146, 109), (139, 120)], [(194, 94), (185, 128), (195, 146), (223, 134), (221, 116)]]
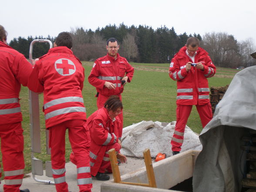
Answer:
[[(183, 144), (185, 126), (187, 124), (190, 112), (193, 105), (180, 105), (177, 104), (176, 109), (176, 125), (175, 131), (172, 136), (172, 151), (179, 152)], [(201, 119), (202, 127), (209, 123), (212, 119), (212, 107), (210, 103), (204, 105), (195, 105)]]

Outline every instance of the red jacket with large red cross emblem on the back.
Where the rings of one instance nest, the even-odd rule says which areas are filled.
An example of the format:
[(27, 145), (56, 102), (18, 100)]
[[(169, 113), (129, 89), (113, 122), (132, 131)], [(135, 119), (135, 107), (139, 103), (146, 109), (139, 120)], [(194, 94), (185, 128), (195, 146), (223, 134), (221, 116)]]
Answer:
[(67, 120), (86, 120), (83, 82), (84, 68), (69, 48), (54, 47), (39, 58), (28, 87), (37, 93), (44, 91), (46, 128)]

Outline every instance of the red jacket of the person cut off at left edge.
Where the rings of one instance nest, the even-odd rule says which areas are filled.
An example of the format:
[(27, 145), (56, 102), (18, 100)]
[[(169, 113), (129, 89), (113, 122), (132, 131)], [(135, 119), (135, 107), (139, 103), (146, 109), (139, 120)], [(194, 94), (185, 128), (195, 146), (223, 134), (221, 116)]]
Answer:
[(27, 86), (31, 71), (23, 54), (0, 41), (0, 125), (22, 121), (20, 84)]

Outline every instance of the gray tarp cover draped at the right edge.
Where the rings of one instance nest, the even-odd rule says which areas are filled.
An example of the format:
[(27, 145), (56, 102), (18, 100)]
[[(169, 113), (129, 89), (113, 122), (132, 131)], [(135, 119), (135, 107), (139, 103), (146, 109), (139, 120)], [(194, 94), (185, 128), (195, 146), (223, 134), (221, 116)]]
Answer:
[(193, 192), (239, 192), (246, 152), (241, 138), (256, 130), (256, 66), (239, 71), (202, 130), (193, 175)]

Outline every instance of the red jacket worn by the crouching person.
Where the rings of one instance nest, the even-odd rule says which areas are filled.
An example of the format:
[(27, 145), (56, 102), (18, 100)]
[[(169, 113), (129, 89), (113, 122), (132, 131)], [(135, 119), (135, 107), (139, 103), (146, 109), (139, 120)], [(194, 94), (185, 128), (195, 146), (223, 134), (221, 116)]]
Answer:
[(116, 117), (115, 121), (112, 121), (104, 107), (95, 111), (88, 118), (86, 126), (90, 129), (91, 135), (90, 164), (92, 175), (98, 173), (107, 145), (118, 142), (119, 124), (119, 118)]

